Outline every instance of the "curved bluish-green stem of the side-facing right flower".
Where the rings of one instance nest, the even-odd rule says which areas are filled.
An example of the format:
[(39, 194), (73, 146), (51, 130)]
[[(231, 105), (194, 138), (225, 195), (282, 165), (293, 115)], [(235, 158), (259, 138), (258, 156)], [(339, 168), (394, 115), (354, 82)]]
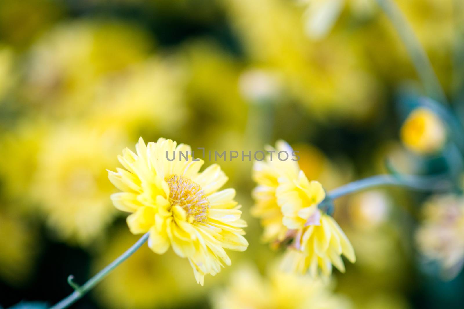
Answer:
[(328, 197), (335, 199), (337, 197), (358, 192), (363, 189), (370, 189), (379, 186), (403, 186), (415, 190), (449, 190), (452, 188), (451, 183), (443, 177), (420, 177), (420, 176), (401, 176), (376, 175), (345, 184), (329, 191)]

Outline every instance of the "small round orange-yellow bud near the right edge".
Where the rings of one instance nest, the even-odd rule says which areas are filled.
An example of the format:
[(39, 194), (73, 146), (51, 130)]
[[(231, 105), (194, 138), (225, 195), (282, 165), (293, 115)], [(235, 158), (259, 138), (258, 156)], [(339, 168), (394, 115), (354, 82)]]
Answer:
[(436, 114), (419, 107), (412, 111), (401, 127), (401, 140), (419, 154), (439, 151), (446, 141), (446, 129)]

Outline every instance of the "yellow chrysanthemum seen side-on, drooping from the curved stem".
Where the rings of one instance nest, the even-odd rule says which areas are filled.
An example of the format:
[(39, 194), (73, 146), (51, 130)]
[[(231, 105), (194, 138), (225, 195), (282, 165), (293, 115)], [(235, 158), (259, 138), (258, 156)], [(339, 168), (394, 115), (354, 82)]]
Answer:
[[(280, 140), (270, 151), (293, 153), (290, 145)], [(332, 264), (345, 271), (341, 255), (352, 263), (356, 260), (353, 246), (335, 220), (322, 213), (318, 205), (325, 198), (321, 183), (309, 181), (296, 161), (289, 157), (281, 161), (274, 154), (256, 162), (253, 178), (258, 186), (253, 190), (253, 214), (264, 226), (264, 239), (281, 242), (293, 238), (286, 254), (284, 268), (316, 276), (318, 269), (329, 276)]]

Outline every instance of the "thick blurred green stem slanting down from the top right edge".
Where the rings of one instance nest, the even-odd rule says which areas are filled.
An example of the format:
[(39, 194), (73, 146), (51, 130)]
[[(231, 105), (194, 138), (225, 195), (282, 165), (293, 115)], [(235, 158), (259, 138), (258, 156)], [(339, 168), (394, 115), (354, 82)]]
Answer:
[(396, 31), (400, 35), (406, 50), (411, 57), (412, 63), (425, 87), (425, 92), (431, 98), (446, 103), (446, 96), (443, 88), (440, 86), (438, 77), (433, 71), (432, 64), (430, 63), (425, 50), (419, 43), (419, 40), (414, 35), (411, 26), (406, 21), (400, 8), (393, 0), (376, 0), (382, 10), (387, 14), (392, 22)]

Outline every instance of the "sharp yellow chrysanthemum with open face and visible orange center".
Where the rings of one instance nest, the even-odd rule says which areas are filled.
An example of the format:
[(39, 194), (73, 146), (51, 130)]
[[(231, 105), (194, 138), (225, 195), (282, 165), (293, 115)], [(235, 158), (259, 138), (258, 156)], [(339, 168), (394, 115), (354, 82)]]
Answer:
[(123, 191), (111, 195), (114, 205), (133, 213), (127, 218), (132, 233), (149, 232), (148, 246), (158, 254), (172, 246), (203, 284), (206, 274), (231, 264), (225, 248), (248, 246), (235, 190), (218, 191), (228, 178), (217, 164), (199, 172), (204, 162), (192, 158), (188, 145), (162, 138), (145, 145), (140, 138), (136, 152), (126, 148), (118, 157), (126, 170), (109, 171), (110, 181)]

